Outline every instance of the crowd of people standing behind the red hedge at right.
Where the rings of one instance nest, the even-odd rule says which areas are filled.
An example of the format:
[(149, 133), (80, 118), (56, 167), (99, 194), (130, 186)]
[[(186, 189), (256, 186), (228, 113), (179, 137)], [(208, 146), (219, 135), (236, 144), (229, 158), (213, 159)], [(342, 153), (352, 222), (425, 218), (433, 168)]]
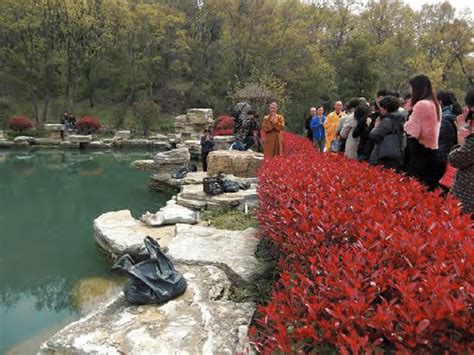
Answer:
[(323, 106), (312, 107), (306, 136), (320, 152), (403, 172), (430, 191), (451, 190), (464, 212), (474, 213), (474, 89), (463, 110), (452, 92), (435, 94), (425, 75), (411, 79), (409, 88), (404, 99), (380, 89), (373, 103), (336, 101), (327, 117)]

